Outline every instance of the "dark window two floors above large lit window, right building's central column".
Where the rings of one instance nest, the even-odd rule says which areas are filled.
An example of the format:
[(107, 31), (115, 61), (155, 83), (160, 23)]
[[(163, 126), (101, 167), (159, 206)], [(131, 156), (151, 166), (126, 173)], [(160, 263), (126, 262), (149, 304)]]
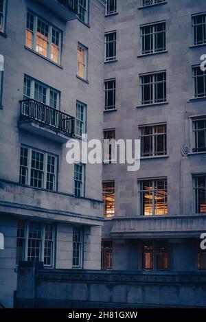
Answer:
[(141, 104), (166, 102), (166, 72), (140, 76)]

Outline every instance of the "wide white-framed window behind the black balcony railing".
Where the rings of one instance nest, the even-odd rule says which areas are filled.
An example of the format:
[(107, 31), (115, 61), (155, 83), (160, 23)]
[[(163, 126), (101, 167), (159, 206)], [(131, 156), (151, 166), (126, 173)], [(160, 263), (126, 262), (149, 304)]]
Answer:
[[(23, 98), (32, 98), (50, 107), (60, 108), (60, 92), (29, 76), (24, 77)], [(45, 113), (44, 110), (41, 113)]]

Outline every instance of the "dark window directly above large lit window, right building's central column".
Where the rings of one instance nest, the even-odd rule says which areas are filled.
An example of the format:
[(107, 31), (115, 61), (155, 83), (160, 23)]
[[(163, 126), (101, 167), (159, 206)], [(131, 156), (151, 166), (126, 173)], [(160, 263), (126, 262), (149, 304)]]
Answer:
[(167, 154), (167, 126), (142, 126), (141, 157), (157, 157)]

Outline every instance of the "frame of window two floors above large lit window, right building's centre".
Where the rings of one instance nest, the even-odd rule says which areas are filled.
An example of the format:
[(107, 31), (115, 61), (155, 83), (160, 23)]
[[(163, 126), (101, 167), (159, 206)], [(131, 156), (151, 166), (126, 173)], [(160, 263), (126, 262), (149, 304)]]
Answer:
[[(163, 75), (163, 80), (156, 80), (158, 75)], [(144, 83), (144, 77), (150, 77), (150, 82)], [(167, 72), (166, 71), (157, 71), (152, 73), (144, 73), (139, 75), (140, 78), (140, 97), (141, 97), (141, 105), (155, 105), (155, 104), (165, 104), (167, 102)], [(163, 97), (160, 99), (158, 97), (158, 84), (163, 84)], [(144, 99), (144, 86), (150, 86), (150, 101)]]

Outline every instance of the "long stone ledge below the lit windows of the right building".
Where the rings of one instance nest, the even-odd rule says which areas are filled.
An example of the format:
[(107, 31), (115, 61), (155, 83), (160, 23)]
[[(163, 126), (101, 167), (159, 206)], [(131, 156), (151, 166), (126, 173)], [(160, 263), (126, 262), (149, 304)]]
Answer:
[(114, 218), (113, 238), (200, 238), (206, 227), (204, 215), (139, 216)]

